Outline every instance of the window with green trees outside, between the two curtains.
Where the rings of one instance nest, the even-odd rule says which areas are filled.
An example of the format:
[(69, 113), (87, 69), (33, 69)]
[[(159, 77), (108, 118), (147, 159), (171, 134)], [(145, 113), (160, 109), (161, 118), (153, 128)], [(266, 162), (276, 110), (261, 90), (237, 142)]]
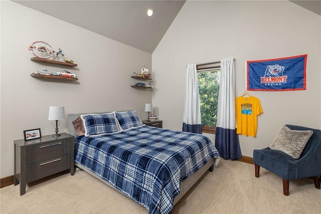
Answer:
[(215, 134), (220, 88), (220, 67), (198, 69), (202, 132)]

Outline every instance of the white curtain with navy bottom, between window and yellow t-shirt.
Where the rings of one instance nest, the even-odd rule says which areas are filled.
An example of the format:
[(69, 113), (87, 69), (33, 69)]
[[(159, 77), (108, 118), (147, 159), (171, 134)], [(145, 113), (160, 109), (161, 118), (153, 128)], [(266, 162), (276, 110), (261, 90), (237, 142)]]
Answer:
[(234, 59), (221, 60), (220, 92), (217, 109), (215, 147), (224, 159), (242, 158), (235, 118)]

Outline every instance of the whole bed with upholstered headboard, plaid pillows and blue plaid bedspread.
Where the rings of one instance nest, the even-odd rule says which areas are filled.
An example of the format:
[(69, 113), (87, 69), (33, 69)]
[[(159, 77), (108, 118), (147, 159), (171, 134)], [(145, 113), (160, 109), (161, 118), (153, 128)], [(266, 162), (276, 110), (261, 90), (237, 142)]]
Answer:
[[(81, 134), (77, 119), (85, 126)], [(220, 159), (206, 136), (146, 126), (134, 110), (68, 114), (68, 132), (75, 136), (75, 165), (149, 213), (170, 213)]]

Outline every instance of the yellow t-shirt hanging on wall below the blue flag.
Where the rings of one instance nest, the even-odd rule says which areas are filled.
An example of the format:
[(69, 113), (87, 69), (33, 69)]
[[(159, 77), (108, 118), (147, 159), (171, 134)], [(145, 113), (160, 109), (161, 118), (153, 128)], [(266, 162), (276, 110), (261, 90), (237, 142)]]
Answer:
[(236, 133), (246, 136), (256, 136), (257, 116), (263, 113), (261, 102), (258, 98), (237, 97), (235, 99)]

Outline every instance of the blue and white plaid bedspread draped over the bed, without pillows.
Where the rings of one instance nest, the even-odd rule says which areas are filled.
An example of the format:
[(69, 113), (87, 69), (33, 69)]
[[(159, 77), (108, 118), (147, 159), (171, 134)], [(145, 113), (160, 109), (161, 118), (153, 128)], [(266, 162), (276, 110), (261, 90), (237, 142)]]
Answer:
[(219, 153), (204, 135), (146, 125), (75, 138), (75, 161), (149, 213), (170, 213), (181, 181), (214, 157)]

